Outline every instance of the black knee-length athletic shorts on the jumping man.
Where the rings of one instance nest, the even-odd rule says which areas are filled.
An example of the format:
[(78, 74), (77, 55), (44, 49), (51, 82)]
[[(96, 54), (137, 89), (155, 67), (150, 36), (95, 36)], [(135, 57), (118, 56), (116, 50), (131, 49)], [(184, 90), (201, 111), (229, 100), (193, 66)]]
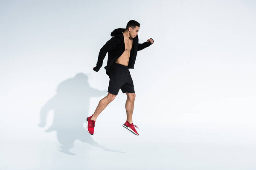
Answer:
[(114, 62), (109, 72), (108, 93), (117, 95), (120, 88), (122, 93), (135, 93), (128, 67)]

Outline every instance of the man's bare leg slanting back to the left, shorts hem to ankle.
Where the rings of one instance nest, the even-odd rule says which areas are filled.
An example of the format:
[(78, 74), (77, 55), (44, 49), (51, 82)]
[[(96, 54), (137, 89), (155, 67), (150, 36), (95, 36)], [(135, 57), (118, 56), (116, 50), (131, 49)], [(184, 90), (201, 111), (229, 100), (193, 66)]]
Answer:
[(112, 102), (115, 98), (116, 98), (116, 95), (108, 93), (107, 96), (105, 96), (103, 99), (101, 99), (99, 101), (99, 104), (98, 104), (95, 112), (93, 113), (91, 120), (96, 120), (97, 117), (99, 116), (99, 113), (101, 113), (107, 107), (107, 105), (110, 102)]

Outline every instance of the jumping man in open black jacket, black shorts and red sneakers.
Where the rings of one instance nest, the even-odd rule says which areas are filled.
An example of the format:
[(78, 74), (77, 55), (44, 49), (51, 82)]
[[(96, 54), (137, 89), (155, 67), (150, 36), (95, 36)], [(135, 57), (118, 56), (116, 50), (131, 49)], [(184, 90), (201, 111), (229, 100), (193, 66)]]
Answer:
[[(123, 127), (130, 130), (135, 135), (137, 133), (135, 125), (132, 122), (132, 113), (134, 110), (135, 91), (134, 84), (128, 68), (134, 68), (137, 51), (140, 51), (154, 43), (152, 38), (143, 44), (138, 43), (138, 32), (140, 23), (130, 20), (125, 28), (117, 28), (111, 32), (112, 38), (106, 42), (99, 51), (98, 62), (94, 71), (99, 71), (102, 67), (103, 59), (108, 52), (108, 63), (104, 67), (106, 74), (109, 76), (108, 95), (99, 101), (95, 112), (92, 116), (87, 117), (87, 131), (91, 135), (94, 133), (95, 121), (99, 114), (107, 107), (107, 105), (115, 99), (121, 88), (122, 93), (127, 95), (125, 103), (127, 120)], [(138, 127), (137, 127), (138, 128)]]

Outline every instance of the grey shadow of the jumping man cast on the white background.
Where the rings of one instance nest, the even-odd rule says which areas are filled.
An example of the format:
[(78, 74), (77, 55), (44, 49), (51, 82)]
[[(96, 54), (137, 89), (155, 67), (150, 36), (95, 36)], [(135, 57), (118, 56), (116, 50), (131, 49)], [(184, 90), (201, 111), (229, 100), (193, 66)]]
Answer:
[(47, 114), (53, 110), (53, 122), (46, 132), (57, 132), (58, 141), (62, 144), (59, 151), (76, 155), (69, 150), (74, 146), (74, 141), (78, 139), (105, 151), (120, 152), (95, 142), (83, 126), (88, 117), (90, 97), (103, 96), (107, 93), (107, 91), (91, 88), (86, 74), (76, 74), (75, 77), (61, 82), (57, 87), (57, 94), (43, 106), (39, 127), (46, 125)]

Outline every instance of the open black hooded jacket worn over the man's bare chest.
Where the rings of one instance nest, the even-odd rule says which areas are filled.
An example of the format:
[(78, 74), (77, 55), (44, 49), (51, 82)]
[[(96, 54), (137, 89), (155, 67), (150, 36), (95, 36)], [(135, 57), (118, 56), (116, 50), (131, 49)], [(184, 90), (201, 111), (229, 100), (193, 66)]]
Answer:
[[(117, 28), (111, 32), (112, 38), (110, 40), (108, 40), (99, 51), (99, 57), (98, 57), (96, 67), (93, 68), (94, 71), (99, 71), (99, 69), (102, 67), (103, 59), (105, 58), (105, 56), (108, 52), (108, 62), (104, 68), (106, 69), (106, 74), (109, 76), (109, 70), (110, 70), (111, 65), (125, 51), (124, 35), (122, 34), (122, 32), (124, 32), (124, 31), (125, 31), (125, 28)], [(153, 40), (153, 42), (154, 42), (154, 40)], [(149, 41), (140, 44), (138, 36), (136, 36), (133, 39), (128, 68), (134, 68), (137, 51), (140, 51), (140, 50), (148, 47), (149, 45), (151, 45), (151, 42), (149, 42)]]

